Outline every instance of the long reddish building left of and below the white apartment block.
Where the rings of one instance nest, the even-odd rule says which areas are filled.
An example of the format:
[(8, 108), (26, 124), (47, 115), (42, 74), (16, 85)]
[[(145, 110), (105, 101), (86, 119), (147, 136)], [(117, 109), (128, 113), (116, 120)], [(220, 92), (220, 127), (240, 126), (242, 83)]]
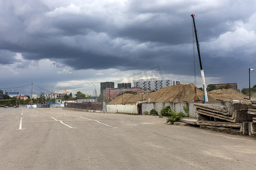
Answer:
[(106, 100), (108, 97), (115, 99), (119, 94), (123, 94), (126, 91), (134, 91), (139, 94), (142, 92), (142, 88), (106, 88), (103, 92), (103, 99)]

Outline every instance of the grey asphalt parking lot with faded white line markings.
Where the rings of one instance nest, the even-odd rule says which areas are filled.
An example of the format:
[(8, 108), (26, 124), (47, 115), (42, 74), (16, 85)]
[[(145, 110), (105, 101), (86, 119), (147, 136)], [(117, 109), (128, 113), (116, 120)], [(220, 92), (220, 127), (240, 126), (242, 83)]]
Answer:
[(165, 118), (0, 109), (0, 169), (256, 169), (256, 140)]

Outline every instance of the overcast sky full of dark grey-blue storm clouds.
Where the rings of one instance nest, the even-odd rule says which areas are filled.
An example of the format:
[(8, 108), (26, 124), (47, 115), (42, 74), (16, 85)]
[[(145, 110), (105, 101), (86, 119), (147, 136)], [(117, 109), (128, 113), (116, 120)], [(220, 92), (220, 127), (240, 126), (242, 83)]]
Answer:
[(158, 77), (202, 87), (195, 14), (206, 83), (242, 90), (256, 69), (255, 9), (249, 0), (2, 0), (0, 89), (93, 95), (91, 83), (98, 92), (100, 82)]

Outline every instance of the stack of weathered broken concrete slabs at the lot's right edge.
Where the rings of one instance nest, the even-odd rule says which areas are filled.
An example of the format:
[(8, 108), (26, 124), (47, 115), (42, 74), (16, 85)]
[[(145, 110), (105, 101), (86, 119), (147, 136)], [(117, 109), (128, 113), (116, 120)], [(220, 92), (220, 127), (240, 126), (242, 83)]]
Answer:
[[(197, 125), (207, 128), (233, 129), (248, 134), (250, 124), (256, 117), (256, 107), (251, 110), (250, 101), (232, 101), (229, 105), (195, 103)], [(255, 101), (256, 106), (256, 101)], [(255, 114), (249, 114), (249, 110)], [(256, 120), (255, 120), (256, 121)], [(253, 128), (254, 125), (251, 125)]]

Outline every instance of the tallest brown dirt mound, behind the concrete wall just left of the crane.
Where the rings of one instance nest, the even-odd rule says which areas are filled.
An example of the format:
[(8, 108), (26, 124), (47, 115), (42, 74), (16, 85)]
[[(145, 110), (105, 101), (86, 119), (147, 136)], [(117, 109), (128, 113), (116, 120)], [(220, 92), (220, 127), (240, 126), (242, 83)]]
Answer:
[[(193, 102), (195, 97), (195, 85), (190, 84), (178, 84), (175, 86), (168, 86), (161, 88), (158, 91), (150, 94), (150, 102), (152, 103), (183, 103), (184, 101)], [(197, 89), (197, 96), (200, 100), (204, 100), (204, 92)], [(216, 101), (213, 97), (208, 96), (208, 101)]]

